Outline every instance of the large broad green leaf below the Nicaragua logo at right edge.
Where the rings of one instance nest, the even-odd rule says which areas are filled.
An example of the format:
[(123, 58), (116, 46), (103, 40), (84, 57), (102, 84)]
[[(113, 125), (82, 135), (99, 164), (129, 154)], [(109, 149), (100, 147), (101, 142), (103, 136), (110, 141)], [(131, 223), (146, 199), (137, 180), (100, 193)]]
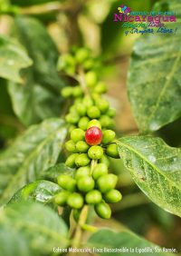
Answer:
[(157, 11), (176, 12), (177, 22), (169, 23), (174, 34), (144, 34), (133, 48), (129, 67), (129, 101), (141, 132), (157, 131), (181, 116), (181, 2), (162, 1)]

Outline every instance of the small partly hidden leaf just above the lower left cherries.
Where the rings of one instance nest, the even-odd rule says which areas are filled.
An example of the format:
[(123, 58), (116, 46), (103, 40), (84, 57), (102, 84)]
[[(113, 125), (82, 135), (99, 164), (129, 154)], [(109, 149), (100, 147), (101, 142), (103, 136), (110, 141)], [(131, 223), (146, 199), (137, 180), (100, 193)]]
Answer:
[(40, 173), (40, 178), (51, 182), (57, 182), (57, 177), (62, 173), (71, 175), (73, 169), (67, 167), (64, 163), (58, 163), (47, 170), (43, 170), (43, 172)]

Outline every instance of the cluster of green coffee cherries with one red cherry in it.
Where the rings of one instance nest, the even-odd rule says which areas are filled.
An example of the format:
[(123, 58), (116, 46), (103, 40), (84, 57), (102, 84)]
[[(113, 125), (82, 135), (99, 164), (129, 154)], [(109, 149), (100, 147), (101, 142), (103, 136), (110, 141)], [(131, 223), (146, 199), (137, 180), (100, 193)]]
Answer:
[[(81, 49), (79, 53), (85, 57), (90, 52)], [(81, 60), (81, 56), (77, 59)], [(63, 97), (74, 98), (74, 104), (65, 117), (70, 123), (70, 140), (65, 143), (70, 154), (65, 164), (75, 172), (58, 177), (58, 184), (63, 190), (54, 201), (60, 206), (69, 205), (74, 210), (91, 204), (101, 218), (109, 219), (111, 210), (108, 203), (119, 202), (122, 197), (115, 189), (117, 175), (109, 173), (109, 157), (119, 158), (115, 133), (111, 130), (115, 110), (102, 97), (107, 91), (106, 86), (98, 81), (94, 71), (87, 71), (81, 78), (86, 90), (82, 84), (62, 89)]]

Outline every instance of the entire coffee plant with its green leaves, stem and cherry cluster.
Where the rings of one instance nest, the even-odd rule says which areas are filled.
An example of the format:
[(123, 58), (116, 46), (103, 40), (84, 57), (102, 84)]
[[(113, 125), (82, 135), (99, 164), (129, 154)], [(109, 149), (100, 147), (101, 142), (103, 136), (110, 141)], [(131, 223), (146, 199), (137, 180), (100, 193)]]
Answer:
[[(90, 4), (74, 2), (0, 1), (0, 255), (179, 253), (129, 231), (119, 210), (127, 207), (122, 172), (129, 172), (140, 197), (162, 212), (160, 222), (181, 217), (181, 34), (145, 34), (135, 42), (127, 91), (138, 130), (123, 135), (104, 79), (115, 47), (104, 42), (110, 14), (101, 27), (107, 54), (95, 54), (79, 42), (77, 24)], [(105, 5), (111, 11), (118, 2)], [(181, 15), (177, 0), (153, 6), (165, 9)], [(61, 39), (66, 49), (52, 39), (57, 20), (61, 34), (70, 33)], [(174, 125), (175, 147), (163, 140), (164, 129), (175, 136)], [(130, 207), (140, 197), (133, 195)]]

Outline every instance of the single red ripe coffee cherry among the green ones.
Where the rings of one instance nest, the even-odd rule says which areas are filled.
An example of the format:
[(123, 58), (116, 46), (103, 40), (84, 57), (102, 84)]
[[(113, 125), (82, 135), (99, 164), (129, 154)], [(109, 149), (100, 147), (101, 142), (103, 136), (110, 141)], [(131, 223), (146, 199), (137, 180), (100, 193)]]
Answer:
[(89, 145), (97, 145), (101, 143), (102, 133), (97, 126), (90, 127), (85, 133), (85, 141)]

